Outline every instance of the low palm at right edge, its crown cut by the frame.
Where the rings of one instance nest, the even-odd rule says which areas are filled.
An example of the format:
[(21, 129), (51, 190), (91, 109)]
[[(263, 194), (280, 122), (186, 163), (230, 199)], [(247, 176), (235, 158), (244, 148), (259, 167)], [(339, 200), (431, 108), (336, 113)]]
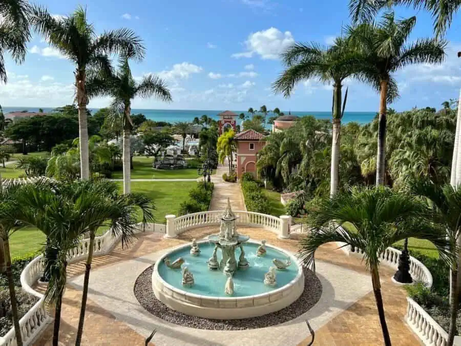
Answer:
[[(455, 189), (447, 184), (439, 186), (427, 179), (413, 179), (409, 184), (410, 190), (417, 196), (425, 198), (432, 213), (432, 220), (442, 225), (450, 242), (453, 258), (458, 257), (456, 242), (461, 231), (459, 215), (461, 215), (461, 189)], [(453, 344), (456, 333), (456, 318), (458, 313), (459, 284), (457, 275), (459, 264), (456, 260), (450, 264), (450, 328), (448, 330), (448, 345)]]

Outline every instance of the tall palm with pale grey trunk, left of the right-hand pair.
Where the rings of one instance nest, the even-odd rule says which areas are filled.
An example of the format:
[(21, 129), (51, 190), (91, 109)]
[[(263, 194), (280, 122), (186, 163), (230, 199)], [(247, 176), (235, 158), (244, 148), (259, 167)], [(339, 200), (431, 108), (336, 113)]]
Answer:
[(347, 90), (342, 104), (344, 79), (357, 72), (358, 55), (347, 40), (337, 37), (333, 46), (318, 44), (294, 44), (282, 54), (285, 71), (273, 84), (276, 93), (289, 97), (295, 86), (303, 80), (318, 78), (321, 82), (333, 84), (333, 131), (331, 145), (330, 195), (338, 190), (341, 119), (347, 100)]

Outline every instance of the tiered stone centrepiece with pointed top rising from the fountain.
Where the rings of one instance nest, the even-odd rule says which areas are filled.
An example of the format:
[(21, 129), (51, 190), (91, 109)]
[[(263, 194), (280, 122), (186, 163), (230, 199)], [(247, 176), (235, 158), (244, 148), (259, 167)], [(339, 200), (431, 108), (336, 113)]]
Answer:
[[(215, 251), (213, 257), (208, 261), (208, 267), (210, 269), (216, 269), (216, 250), (221, 249), (222, 258), (219, 261), (219, 268), (221, 268), (224, 274), (231, 274), (237, 271), (238, 268), (248, 268), (248, 261), (244, 257), (243, 243), (249, 240), (246, 235), (239, 235), (236, 231), (237, 216), (231, 209), (231, 202), (227, 198), (227, 206), (224, 214), (221, 217), (221, 227), (219, 234), (208, 236), (208, 241), (215, 244)], [(235, 250), (240, 248), (241, 255), (239, 262), (235, 258)]]

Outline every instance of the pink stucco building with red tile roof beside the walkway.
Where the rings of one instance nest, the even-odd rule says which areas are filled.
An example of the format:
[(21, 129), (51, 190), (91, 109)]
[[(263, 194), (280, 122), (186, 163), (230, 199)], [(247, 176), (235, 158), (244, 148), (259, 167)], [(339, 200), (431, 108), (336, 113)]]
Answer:
[(237, 178), (245, 172), (257, 176), (258, 152), (266, 145), (264, 135), (254, 130), (246, 130), (235, 135), (237, 141)]

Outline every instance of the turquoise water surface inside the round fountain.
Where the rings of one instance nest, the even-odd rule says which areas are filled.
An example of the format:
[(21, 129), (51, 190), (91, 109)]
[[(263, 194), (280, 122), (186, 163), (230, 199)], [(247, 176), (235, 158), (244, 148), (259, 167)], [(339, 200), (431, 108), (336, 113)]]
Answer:
[[(181, 284), (182, 274), (181, 269), (171, 269), (165, 263), (160, 262), (158, 272), (167, 283), (172, 286), (199, 295), (226, 297), (224, 286), (227, 276), (222, 270), (209, 270), (208, 259), (212, 257), (215, 244), (211, 242), (199, 243), (200, 254), (193, 256), (190, 254), (190, 247), (179, 249), (168, 254), (171, 260), (179, 257), (184, 259), (182, 268), (187, 267), (194, 275), (195, 284), (193, 287), (183, 287)], [(274, 258), (285, 261), (286, 254), (269, 246), (266, 247), (266, 255), (264, 257), (257, 256), (259, 245), (251, 242), (244, 243), (245, 257), (249, 267), (246, 270), (237, 270), (233, 276), (234, 279), (234, 297), (251, 296), (261, 293), (268, 293), (281, 288), (288, 284), (298, 275), (298, 266), (296, 263), (291, 263), (285, 270), (277, 270), (277, 285), (275, 287), (266, 286), (264, 284), (264, 274), (267, 273), (270, 267), (274, 264)], [(236, 250), (236, 258), (240, 256), (240, 248)], [(220, 254), (220, 250), (218, 250)], [(228, 296), (227, 296), (228, 297)]]

